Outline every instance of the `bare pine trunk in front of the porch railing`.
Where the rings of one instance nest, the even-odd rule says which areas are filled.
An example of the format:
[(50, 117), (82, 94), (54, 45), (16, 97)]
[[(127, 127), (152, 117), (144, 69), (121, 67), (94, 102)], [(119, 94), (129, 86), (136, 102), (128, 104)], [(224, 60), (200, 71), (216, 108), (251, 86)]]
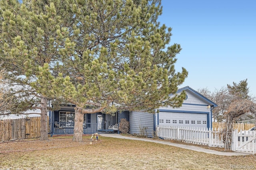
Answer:
[(84, 114), (82, 108), (75, 107), (74, 142), (82, 142)]

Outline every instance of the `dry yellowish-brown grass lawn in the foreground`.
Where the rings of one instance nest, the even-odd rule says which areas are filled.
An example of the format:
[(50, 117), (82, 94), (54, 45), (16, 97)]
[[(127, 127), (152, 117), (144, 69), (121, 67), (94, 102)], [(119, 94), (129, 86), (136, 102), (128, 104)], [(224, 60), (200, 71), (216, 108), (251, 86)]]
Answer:
[(0, 143), (0, 170), (227, 170), (256, 156), (218, 156), (154, 142), (72, 136)]

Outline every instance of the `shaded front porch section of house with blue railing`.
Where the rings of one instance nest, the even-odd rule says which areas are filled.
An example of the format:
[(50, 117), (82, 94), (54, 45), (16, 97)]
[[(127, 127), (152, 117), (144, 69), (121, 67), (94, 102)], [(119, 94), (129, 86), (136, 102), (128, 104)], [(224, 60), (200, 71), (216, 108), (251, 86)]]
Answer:
[[(75, 105), (67, 104), (61, 106), (60, 110), (49, 113), (52, 123), (52, 134), (73, 134)], [(93, 134), (97, 131), (114, 131), (113, 126), (118, 124), (122, 118), (129, 121), (129, 111), (116, 112), (115, 114), (105, 114), (97, 112), (94, 114), (84, 114), (83, 133)]]

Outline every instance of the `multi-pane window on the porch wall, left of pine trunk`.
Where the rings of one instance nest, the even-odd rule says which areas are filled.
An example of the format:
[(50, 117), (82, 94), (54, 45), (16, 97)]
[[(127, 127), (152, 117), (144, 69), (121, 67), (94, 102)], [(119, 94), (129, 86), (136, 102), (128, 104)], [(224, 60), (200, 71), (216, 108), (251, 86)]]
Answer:
[(70, 127), (74, 126), (75, 112), (60, 112), (60, 126)]

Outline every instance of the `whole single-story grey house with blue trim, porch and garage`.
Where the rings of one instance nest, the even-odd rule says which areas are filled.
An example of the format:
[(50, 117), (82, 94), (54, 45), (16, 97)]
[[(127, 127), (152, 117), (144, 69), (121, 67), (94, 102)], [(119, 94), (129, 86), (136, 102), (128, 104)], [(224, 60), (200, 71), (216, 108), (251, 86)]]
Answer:
[[(130, 134), (145, 134), (153, 137), (158, 125), (190, 126), (212, 128), (212, 109), (217, 106), (189, 86), (180, 88), (177, 93), (186, 91), (186, 99), (180, 108), (162, 107), (148, 112), (122, 111), (116, 114), (84, 114), (84, 134), (97, 131), (112, 131), (111, 126), (118, 124), (122, 118), (130, 122)], [(170, 94), (171, 96), (171, 94)], [(73, 133), (74, 105), (62, 106), (60, 110), (50, 113), (52, 133)]]

